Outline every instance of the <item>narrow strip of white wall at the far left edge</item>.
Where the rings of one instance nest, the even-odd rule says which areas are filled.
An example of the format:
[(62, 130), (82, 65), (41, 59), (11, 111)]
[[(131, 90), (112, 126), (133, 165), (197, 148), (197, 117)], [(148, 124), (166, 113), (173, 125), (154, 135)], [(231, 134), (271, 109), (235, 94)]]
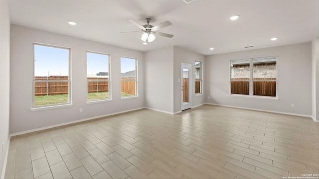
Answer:
[[(0, 0), (0, 177), (9, 137), (10, 17), (7, 0)], [(3, 151), (2, 151), (3, 144)], [(2, 174), (2, 175), (3, 175)], [(3, 176), (2, 176), (3, 177)]]

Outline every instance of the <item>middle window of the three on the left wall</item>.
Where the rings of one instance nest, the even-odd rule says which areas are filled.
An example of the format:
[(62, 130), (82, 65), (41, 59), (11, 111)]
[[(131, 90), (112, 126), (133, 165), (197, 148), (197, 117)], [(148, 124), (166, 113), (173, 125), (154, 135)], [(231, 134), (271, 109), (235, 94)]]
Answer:
[(86, 53), (88, 101), (110, 99), (109, 55)]

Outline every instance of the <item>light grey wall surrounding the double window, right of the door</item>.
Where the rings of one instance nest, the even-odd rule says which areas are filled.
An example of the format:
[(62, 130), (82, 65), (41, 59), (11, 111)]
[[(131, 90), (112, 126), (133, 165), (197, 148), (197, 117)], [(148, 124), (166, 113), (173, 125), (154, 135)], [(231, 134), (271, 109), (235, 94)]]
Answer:
[[(210, 96), (206, 102), (311, 116), (311, 51), (311, 43), (302, 43), (206, 56), (206, 97)], [(267, 56), (278, 56), (279, 100), (229, 95), (229, 60)]]

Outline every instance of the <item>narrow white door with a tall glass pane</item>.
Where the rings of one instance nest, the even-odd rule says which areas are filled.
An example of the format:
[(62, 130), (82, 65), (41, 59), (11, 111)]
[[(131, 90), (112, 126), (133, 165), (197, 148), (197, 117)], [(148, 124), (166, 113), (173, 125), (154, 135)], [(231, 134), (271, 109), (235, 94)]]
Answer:
[(191, 108), (191, 65), (181, 63), (181, 110)]

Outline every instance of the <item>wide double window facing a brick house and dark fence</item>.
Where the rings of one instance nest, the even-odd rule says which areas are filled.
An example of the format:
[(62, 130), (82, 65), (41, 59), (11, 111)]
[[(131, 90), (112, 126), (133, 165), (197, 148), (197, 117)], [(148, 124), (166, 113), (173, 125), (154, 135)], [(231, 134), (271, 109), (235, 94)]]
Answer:
[(231, 94), (276, 97), (277, 57), (230, 61)]

